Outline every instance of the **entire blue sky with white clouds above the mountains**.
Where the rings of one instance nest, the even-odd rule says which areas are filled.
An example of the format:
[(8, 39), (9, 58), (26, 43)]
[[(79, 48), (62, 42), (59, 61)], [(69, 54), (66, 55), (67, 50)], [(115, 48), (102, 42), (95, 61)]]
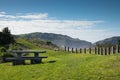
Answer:
[(120, 0), (0, 0), (0, 31), (4, 27), (94, 43), (120, 36)]

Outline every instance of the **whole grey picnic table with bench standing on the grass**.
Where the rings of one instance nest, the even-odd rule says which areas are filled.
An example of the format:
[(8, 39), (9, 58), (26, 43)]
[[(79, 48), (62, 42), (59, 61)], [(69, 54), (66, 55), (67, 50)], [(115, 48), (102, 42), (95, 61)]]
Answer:
[[(10, 53), (16, 53), (16, 57), (6, 58), (13, 65), (25, 64), (25, 60), (30, 60), (31, 64), (41, 63), (43, 58), (47, 58), (47, 56), (39, 56), (39, 53), (46, 53), (44, 50), (12, 50)], [(24, 53), (32, 53), (34, 56), (22, 56)]]

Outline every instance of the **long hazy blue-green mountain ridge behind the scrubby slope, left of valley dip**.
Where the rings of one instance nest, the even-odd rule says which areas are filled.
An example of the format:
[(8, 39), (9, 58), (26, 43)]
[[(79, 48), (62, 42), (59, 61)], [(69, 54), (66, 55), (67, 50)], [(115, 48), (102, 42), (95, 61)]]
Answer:
[(74, 48), (84, 48), (93, 46), (91, 42), (74, 39), (67, 35), (61, 34), (53, 34), (53, 33), (30, 33), (30, 34), (22, 34), (16, 35), (16, 38), (31, 38), (31, 39), (41, 39), (45, 41), (51, 41), (59, 47), (69, 46)]

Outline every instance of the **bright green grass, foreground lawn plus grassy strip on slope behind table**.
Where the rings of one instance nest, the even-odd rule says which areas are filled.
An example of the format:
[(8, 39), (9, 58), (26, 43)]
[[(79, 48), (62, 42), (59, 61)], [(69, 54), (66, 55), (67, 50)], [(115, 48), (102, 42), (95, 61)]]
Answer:
[[(30, 49), (42, 49), (27, 41)], [(43, 50), (43, 49), (42, 49)], [(0, 64), (0, 80), (119, 80), (120, 54), (73, 54), (47, 50), (42, 64), (11, 66)]]

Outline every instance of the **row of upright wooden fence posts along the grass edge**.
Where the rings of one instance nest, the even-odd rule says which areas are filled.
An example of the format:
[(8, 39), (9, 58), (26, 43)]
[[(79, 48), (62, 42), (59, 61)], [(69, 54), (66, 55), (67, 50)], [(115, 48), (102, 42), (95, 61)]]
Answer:
[(93, 48), (70, 48), (65, 46), (64, 50), (66, 52), (71, 53), (110, 55), (120, 53), (120, 45), (116, 45), (115, 47), (93, 47)]

